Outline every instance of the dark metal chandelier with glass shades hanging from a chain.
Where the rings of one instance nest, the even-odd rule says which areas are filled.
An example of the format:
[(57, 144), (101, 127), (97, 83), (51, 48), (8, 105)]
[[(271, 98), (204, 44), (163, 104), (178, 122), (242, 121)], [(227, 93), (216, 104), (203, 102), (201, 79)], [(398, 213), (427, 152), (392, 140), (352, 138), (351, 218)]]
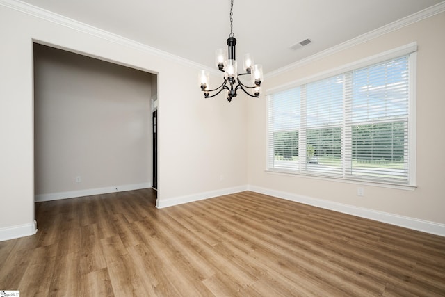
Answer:
[[(216, 66), (218, 70), (224, 72), (224, 81), (218, 87), (210, 90), (209, 81), (210, 74), (205, 70), (201, 70), (199, 74), (199, 81), (204, 97), (215, 97), (223, 90), (226, 92), (227, 101), (231, 102), (232, 98), (236, 97), (238, 90), (243, 90), (244, 93), (251, 97), (259, 97), (261, 93), (261, 82), (263, 81), (263, 67), (261, 65), (254, 65), (253, 58), (250, 54), (244, 55), (243, 73), (238, 74), (238, 65), (236, 63), (235, 48), (236, 38), (233, 32), (233, 9), (234, 0), (230, 1), (230, 35), (227, 38), (228, 51), (225, 49), (216, 50)], [(227, 56), (228, 54), (228, 56)], [(240, 77), (250, 77), (250, 86), (243, 83)], [(245, 78), (245, 77), (244, 77)]]

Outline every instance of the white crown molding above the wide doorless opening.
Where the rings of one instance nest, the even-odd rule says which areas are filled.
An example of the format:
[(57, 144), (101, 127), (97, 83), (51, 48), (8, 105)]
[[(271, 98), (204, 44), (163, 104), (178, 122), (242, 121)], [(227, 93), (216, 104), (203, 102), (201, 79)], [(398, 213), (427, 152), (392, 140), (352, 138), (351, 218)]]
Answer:
[(7, 8), (17, 10), (20, 13), (25, 13), (27, 15), (32, 15), (33, 17), (38, 17), (40, 19), (44, 19), (48, 22), (52, 22), (54, 24), (58, 24), (60, 26), (65, 26), (70, 29), (74, 29), (76, 31), (81, 31), (82, 33), (86, 33), (88, 35), (93, 35), (97, 38), (102, 38), (103, 40), (107, 40), (109, 42), (114, 42), (118, 45), (123, 45), (124, 47), (129, 47), (131, 49), (136, 49), (138, 51), (143, 51), (147, 54), (152, 54), (154, 56), (158, 56), (160, 58), (165, 58), (169, 61), (173, 61), (175, 63), (180, 63), (182, 65), (194, 67), (197, 69), (206, 69), (213, 74), (219, 74), (216, 70), (211, 69), (205, 65), (201, 65), (200, 63), (196, 63), (194, 61), (188, 60), (186, 58), (181, 58), (180, 56), (176, 56), (174, 54), (170, 54), (167, 51), (162, 51), (161, 49), (156, 49), (155, 47), (150, 47), (149, 45), (145, 45), (143, 43), (137, 42), (135, 40), (131, 40), (129, 38), (124, 38), (121, 35), (117, 35), (94, 26), (90, 26), (88, 24), (78, 22), (75, 19), (70, 19), (69, 17), (65, 17), (63, 15), (58, 15), (57, 13), (52, 13), (49, 10), (45, 10), (38, 6), (33, 6), (29, 3), (25, 3), (19, 0), (0, 0), (0, 6), (5, 6)]

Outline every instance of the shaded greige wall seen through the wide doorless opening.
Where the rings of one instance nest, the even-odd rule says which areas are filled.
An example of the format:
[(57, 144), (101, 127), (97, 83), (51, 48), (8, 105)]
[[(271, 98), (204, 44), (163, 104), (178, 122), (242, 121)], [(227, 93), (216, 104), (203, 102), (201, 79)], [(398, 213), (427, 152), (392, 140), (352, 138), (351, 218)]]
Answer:
[(151, 186), (152, 77), (35, 44), (36, 200)]

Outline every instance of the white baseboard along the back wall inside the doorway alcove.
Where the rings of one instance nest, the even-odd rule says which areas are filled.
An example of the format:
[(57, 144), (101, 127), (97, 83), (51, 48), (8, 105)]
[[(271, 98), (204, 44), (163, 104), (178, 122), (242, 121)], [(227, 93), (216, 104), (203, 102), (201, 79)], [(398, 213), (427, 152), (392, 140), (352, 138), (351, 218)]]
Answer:
[(108, 186), (106, 188), (88, 188), (79, 191), (39, 194), (35, 195), (34, 201), (43, 202), (51, 200), (60, 200), (60, 199), (76, 198), (76, 197), (83, 197), (90, 195), (101, 195), (101, 194), (108, 194), (115, 192), (133, 191), (133, 190), (140, 190), (141, 188), (151, 188), (151, 187), (152, 187), (151, 183), (144, 183), (144, 184), (125, 184), (121, 186)]

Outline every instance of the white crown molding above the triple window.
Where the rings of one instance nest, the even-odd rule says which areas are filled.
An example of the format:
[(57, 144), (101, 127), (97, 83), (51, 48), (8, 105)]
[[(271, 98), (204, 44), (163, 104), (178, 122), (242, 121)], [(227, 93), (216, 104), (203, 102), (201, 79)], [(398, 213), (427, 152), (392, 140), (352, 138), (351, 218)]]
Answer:
[(443, 13), (445, 11), (445, 1), (441, 3), (437, 3), (429, 8), (419, 11), (418, 13), (413, 13), (412, 15), (408, 15), (407, 17), (403, 17), (402, 19), (398, 19), (396, 22), (392, 22), (385, 26), (382, 26), (373, 31), (369, 31), (368, 33), (364, 33), (362, 35), (357, 36), (351, 40), (346, 42), (342, 42), (339, 45), (334, 47), (330, 47), (329, 49), (325, 49), (324, 51), (320, 51), (317, 54), (309, 56), (307, 58), (303, 58), (299, 61), (281, 67), (277, 70), (273, 70), (264, 74), (265, 78), (275, 77), (284, 72), (288, 72), (302, 65), (306, 65), (312, 63), (314, 61), (320, 60), (321, 58), (325, 58), (326, 56), (330, 56), (339, 51), (343, 51), (344, 49), (348, 49), (350, 47), (354, 47), (355, 45), (359, 45), (360, 43), (367, 42), (374, 38), (378, 38), (381, 35), (385, 35), (389, 32), (396, 31), (398, 29), (403, 28), (404, 26), (408, 26), (410, 24), (414, 24), (415, 22), (419, 22), (422, 19), (426, 19), (428, 17), (432, 17), (433, 15), (437, 15), (438, 13)]

